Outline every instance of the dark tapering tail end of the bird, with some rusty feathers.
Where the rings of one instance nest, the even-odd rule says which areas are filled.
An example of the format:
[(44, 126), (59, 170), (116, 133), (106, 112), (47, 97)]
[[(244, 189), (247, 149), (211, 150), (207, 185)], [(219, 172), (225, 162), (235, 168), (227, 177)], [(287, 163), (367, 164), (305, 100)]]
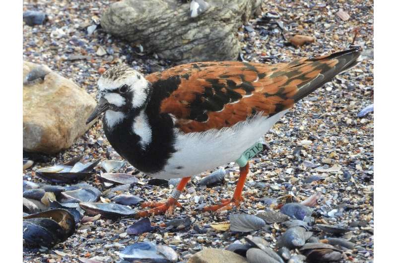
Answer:
[(292, 96), (292, 99), (295, 102), (301, 100), (330, 81), (337, 74), (356, 66), (361, 61), (360, 53), (359, 48), (353, 48), (331, 55), (306, 59), (299, 66), (308, 66), (311, 71), (318, 71), (319, 74), (309, 81), (304, 81), (303, 85), (298, 86), (298, 90)]

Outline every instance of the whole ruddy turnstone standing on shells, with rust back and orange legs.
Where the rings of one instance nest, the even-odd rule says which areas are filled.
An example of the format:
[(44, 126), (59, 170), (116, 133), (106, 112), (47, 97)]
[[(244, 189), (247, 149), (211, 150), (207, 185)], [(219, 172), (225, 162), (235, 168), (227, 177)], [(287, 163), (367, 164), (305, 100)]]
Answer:
[(203, 208), (226, 210), (242, 200), (250, 157), (242, 153), (254, 149), (294, 103), (355, 66), (359, 56), (354, 48), (276, 65), (200, 62), (146, 77), (115, 66), (98, 81), (99, 103), (87, 123), (105, 113), (107, 139), (136, 169), (154, 178), (183, 178), (166, 202), (144, 203), (154, 208), (137, 217), (171, 211), (191, 176), (237, 160), (233, 197)]

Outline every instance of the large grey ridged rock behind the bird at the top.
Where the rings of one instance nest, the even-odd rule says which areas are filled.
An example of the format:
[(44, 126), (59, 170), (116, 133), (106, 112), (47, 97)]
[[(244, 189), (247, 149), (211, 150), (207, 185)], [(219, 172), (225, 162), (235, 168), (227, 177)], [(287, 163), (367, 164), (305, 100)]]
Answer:
[(209, 8), (192, 18), (178, 0), (124, 0), (102, 14), (103, 29), (177, 63), (237, 58), (237, 30), (263, 0), (206, 0)]

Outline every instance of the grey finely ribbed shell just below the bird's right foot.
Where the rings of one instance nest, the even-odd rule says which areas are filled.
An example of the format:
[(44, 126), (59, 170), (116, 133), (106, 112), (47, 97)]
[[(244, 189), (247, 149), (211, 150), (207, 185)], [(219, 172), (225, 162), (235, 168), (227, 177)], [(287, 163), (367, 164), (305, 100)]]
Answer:
[(230, 231), (251, 232), (265, 227), (265, 221), (252, 214), (230, 215)]

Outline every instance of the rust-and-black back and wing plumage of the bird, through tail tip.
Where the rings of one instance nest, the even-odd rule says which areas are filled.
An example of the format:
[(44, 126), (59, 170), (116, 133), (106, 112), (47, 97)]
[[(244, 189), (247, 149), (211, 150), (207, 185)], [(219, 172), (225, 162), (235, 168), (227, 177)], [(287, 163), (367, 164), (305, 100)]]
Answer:
[(160, 113), (172, 114), (182, 132), (230, 127), (262, 113), (271, 116), (357, 64), (351, 49), (291, 63), (203, 62), (175, 66), (146, 79), (162, 92)]

